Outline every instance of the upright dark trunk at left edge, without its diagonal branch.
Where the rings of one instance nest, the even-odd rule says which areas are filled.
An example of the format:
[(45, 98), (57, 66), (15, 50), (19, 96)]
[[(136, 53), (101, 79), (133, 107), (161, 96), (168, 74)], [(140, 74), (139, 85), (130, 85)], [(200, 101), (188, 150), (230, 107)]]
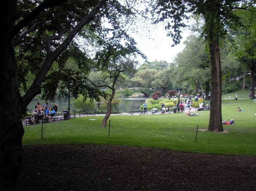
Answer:
[(14, 191), (18, 182), (19, 171), (24, 165), (21, 123), (21, 103), (19, 84), (16, 77), (14, 40), (8, 35), (14, 26), (16, 0), (1, 2), (2, 35), (0, 36), (0, 190)]

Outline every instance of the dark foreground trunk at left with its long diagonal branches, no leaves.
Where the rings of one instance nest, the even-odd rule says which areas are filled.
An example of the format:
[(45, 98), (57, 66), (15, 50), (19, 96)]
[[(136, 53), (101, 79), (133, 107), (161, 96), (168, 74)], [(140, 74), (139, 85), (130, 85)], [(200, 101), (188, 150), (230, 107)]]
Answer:
[[(55, 2), (57, 2), (58, 5), (64, 1)], [(50, 7), (54, 6), (51, 4), (53, 1), (44, 2), (50, 3)], [(21, 98), (19, 93), (13, 39), (17, 34), (14, 32), (15, 18), (17, 18), (17, 16), (15, 16), (17, 0), (3, 0), (1, 2), (0, 98), (2, 107), (0, 109), (0, 191), (16, 190), (19, 172), (24, 166), (25, 160), (22, 150), (22, 137), (24, 135), (24, 128), (21, 122), (22, 112), (33, 97), (40, 93), (42, 81), (54, 62), (54, 59), (66, 49), (76, 33), (93, 19), (105, 2), (106, 0), (101, 0), (97, 6), (92, 9), (91, 13), (78, 23), (77, 27), (72, 30), (71, 34), (65, 39), (58, 50), (47, 57), (50, 61), (45, 61), (45, 65), (41, 68), (40, 74), (36, 76), (36, 82), (33, 82), (32, 87), (30, 87), (23, 98)], [(19, 25), (17, 32), (25, 27), (26, 23), (29, 23), (31, 19), (34, 19), (34, 17), (29, 17), (27, 19), (28, 22), (23, 23), (24, 25)]]

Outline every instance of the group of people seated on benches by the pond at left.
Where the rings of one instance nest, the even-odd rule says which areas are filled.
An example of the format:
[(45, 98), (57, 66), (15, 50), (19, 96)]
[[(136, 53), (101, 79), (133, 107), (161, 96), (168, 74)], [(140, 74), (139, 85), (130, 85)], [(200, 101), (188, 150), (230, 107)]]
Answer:
[[(44, 112), (43, 112), (44, 109)], [(50, 107), (49, 103), (46, 102), (43, 108), (41, 107), (40, 103), (38, 102), (35, 106), (35, 109), (33, 111), (32, 117), (31, 117), (31, 123), (35, 124), (38, 122), (39, 119), (43, 119), (43, 116), (45, 115), (48, 119), (51, 118), (52, 115), (56, 114), (58, 111), (58, 106), (55, 103), (53, 107)]]

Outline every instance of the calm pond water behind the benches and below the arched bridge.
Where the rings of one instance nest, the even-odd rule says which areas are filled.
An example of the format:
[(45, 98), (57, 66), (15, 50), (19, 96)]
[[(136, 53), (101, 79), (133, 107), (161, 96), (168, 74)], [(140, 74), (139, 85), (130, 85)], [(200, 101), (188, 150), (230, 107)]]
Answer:
[[(142, 105), (145, 100), (149, 99), (148, 97), (141, 97), (141, 98), (121, 98), (121, 103), (119, 104), (119, 112), (125, 113), (129, 112), (130, 110), (139, 109), (140, 105)], [(35, 100), (28, 105), (29, 111), (33, 111), (37, 102), (40, 102), (40, 105), (43, 107), (45, 104), (45, 100)], [(55, 100), (49, 100), (49, 105), (53, 107), (55, 103), (58, 105), (58, 112), (66, 111), (69, 106), (69, 99), (68, 98), (56, 98)], [(70, 101), (70, 108), (73, 109), (73, 103)], [(29, 113), (29, 112), (28, 112)]]

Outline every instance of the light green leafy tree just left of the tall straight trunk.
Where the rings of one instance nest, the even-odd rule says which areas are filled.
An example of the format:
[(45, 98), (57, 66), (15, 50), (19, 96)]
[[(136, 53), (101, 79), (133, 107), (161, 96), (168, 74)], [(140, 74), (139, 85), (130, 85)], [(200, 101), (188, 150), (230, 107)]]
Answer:
[(184, 44), (183, 51), (175, 57), (176, 83), (193, 83), (195, 94), (199, 93), (199, 85), (201, 85), (201, 95), (205, 93), (208, 100), (209, 88), (207, 87), (211, 80), (211, 71), (207, 43), (204, 39), (191, 35)]

